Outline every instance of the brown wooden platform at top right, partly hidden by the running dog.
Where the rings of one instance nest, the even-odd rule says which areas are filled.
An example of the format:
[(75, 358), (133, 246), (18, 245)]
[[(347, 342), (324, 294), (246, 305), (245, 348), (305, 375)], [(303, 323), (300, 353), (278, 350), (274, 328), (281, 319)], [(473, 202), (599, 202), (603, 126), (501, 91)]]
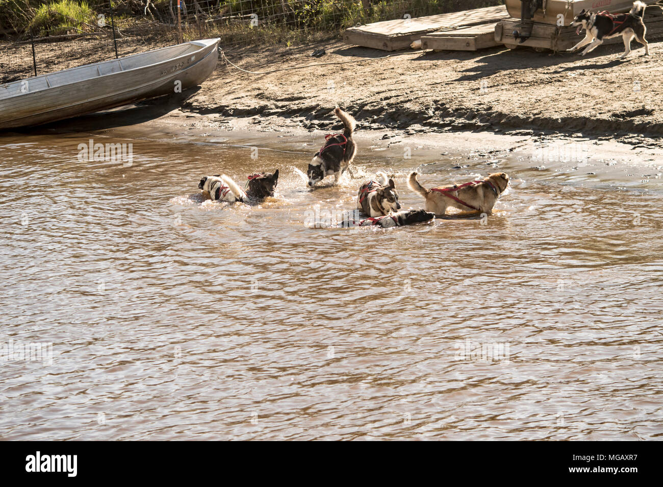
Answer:
[[(585, 36), (575, 33), (575, 27), (556, 27), (554, 25), (534, 23), (532, 35), (522, 44), (512, 35), (513, 31), (518, 29), (519, 19), (506, 19), (499, 21), (495, 25), (495, 41), (505, 44), (509, 48), (517, 46), (529, 46), (536, 49), (550, 49), (556, 51), (567, 50), (575, 46)], [(650, 5), (644, 13), (644, 25), (647, 27), (645, 38), (647, 40), (663, 35), (663, 9), (658, 5)], [(621, 36), (605, 39), (603, 44), (622, 44), (624, 41)], [(637, 42), (631, 42), (631, 48), (639, 46)]]

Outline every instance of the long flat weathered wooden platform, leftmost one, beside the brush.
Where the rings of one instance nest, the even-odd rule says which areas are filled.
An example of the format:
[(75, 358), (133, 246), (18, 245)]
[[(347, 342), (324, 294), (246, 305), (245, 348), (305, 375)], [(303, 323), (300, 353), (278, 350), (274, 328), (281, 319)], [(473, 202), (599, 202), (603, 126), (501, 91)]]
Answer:
[(343, 33), (343, 41), (346, 44), (387, 51), (406, 49), (412, 42), (419, 40), (422, 35), (440, 31), (440, 29), (495, 23), (508, 17), (507, 8), (504, 5), (497, 5), (484, 9), (418, 17), (417, 19), (396, 19), (350, 27)]

